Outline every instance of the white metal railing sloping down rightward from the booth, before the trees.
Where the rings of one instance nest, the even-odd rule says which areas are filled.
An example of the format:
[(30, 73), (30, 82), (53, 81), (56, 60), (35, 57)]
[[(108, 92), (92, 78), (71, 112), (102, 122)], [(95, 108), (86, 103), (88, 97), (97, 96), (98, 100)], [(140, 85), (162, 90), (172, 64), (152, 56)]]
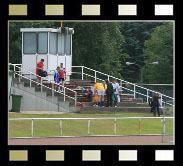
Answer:
[[(97, 74), (101, 74), (101, 75), (103, 75), (103, 76), (106, 76), (106, 79), (108, 79), (108, 80), (110, 80), (110, 79), (115, 79), (115, 80), (119, 81), (120, 86), (121, 86), (122, 89), (132, 92), (134, 98), (136, 98), (136, 95), (137, 95), (137, 94), (146, 97), (146, 102), (147, 102), (147, 103), (149, 102), (149, 98), (150, 98), (150, 99), (152, 98), (152, 96), (150, 96), (150, 92), (151, 92), (151, 93), (157, 93), (156, 91), (150, 90), (150, 89), (148, 89), (148, 88), (144, 88), (144, 87), (139, 86), (139, 85), (137, 85), (137, 84), (135, 84), (135, 83), (131, 83), (131, 82), (122, 80), (122, 79), (120, 79), (120, 78), (116, 78), (116, 77), (111, 76), (111, 75), (109, 75), (109, 74), (105, 74), (105, 73), (102, 73), (102, 72), (100, 72), (100, 71), (97, 71), (97, 70), (94, 70), (94, 69), (91, 69), (91, 68), (88, 68), (88, 67), (85, 67), (85, 66), (72, 66), (72, 68), (81, 68), (81, 80), (84, 80), (84, 75), (85, 75), (85, 76), (94, 78), (94, 81), (95, 81), (95, 82), (97, 82), (97, 80), (99, 80), (99, 81), (104, 81), (103, 79), (97, 77)], [(87, 73), (86, 73), (86, 70), (84, 70), (84, 69), (94, 72), (94, 75), (87, 74)], [(73, 72), (73, 73), (74, 73), (74, 72)], [(132, 85), (133, 88), (132, 88), (132, 89), (126, 88), (126, 87), (123, 86), (123, 84)], [(137, 91), (137, 88), (140, 88), (141, 90), (145, 90), (145, 91), (146, 91), (145, 94), (138, 92), (138, 91)], [(160, 93), (160, 98), (161, 98), (161, 102), (162, 102), (161, 105), (164, 103), (164, 104), (167, 104), (167, 105), (169, 105), (169, 106), (174, 106), (174, 98), (173, 98), (173, 97), (170, 97), (170, 96), (167, 96), (167, 95), (164, 95), (164, 94)], [(165, 98), (168, 98), (169, 101), (171, 100), (172, 103), (171, 103), (171, 102), (165, 102)]]

